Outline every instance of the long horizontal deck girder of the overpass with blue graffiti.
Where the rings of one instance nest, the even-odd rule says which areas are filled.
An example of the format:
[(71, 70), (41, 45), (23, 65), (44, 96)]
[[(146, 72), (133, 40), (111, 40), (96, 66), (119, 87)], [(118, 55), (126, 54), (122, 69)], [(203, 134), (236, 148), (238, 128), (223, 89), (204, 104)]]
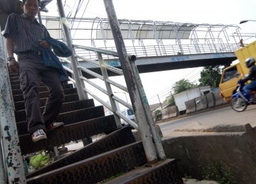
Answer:
[[(186, 45), (188, 46), (188, 45)], [(207, 46), (207, 45), (201, 45)], [(80, 47), (79, 45), (75, 45), (75, 47)], [(146, 50), (149, 50), (151, 46), (145, 47)], [(113, 47), (114, 49), (114, 47)], [(137, 54), (135, 64), (137, 65), (139, 73), (147, 73), (154, 71), (166, 71), (172, 69), (186, 69), (193, 67), (206, 67), (206, 66), (215, 66), (215, 65), (225, 65), (228, 66), (233, 62), (236, 57), (234, 51), (238, 49), (233, 45), (232, 50), (230, 52), (203, 52), (203, 53), (185, 53), (185, 54), (174, 54), (174, 53), (162, 53), (157, 52), (159, 50), (151, 50), (149, 56), (146, 54)], [(129, 52), (129, 47), (127, 47), (127, 51)], [(174, 51), (173, 51), (174, 52)], [(132, 52), (130, 52), (132, 54)], [(86, 58), (91, 57), (89, 54)], [(82, 57), (81, 57), (82, 58)], [(118, 58), (105, 58), (105, 63), (112, 67), (121, 68), (121, 64)], [(91, 62), (83, 62), (80, 61), (80, 65), (96, 73), (100, 73), (100, 68), (95, 66), (95, 64)], [(115, 73), (109, 72), (109, 76), (115, 76)], [(88, 79), (90, 79), (90, 75), (85, 75)]]

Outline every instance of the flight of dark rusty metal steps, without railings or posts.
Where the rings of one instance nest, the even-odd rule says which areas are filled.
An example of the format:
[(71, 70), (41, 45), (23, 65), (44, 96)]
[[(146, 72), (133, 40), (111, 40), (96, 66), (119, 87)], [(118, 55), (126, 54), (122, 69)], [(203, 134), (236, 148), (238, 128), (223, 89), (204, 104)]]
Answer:
[[(147, 166), (142, 142), (135, 141), (131, 128), (125, 126), (118, 129), (114, 115), (105, 116), (103, 107), (95, 106), (92, 99), (78, 100), (72, 84), (65, 84), (65, 103), (58, 115), (58, 121), (64, 122), (65, 126), (48, 131), (48, 139), (33, 143), (27, 133), (26, 113), (21, 91), (16, 84), (17, 76), (9, 76), (22, 155), (50, 150), (53, 146), (107, 132), (82, 149), (28, 173), (26, 183), (99, 183), (120, 173), (123, 175), (108, 183), (182, 183), (176, 160), (166, 159)], [(43, 109), (47, 94), (43, 84), (40, 94)]]

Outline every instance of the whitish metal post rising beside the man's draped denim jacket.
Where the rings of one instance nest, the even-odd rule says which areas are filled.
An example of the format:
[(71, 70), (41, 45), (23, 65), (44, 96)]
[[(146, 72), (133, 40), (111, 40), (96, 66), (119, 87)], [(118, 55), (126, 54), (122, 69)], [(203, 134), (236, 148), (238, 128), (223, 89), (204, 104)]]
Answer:
[(58, 5), (58, 11), (60, 13), (60, 21), (63, 25), (62, 27), (63, 27), (64, 33), (65, 33), (66, 42), (68, 44), (68, 47), (70, 47), (73, 51), (73, 54), (71, 56), (71, 67), (74, 71), (75, 86), (78, 89), (79, 99), (84, 100), (84, 99), (87, 99), (88, 96), (87, 96), (87, 93), (85, 93), (82, 89), (82, 88), (85, 88), (85, 84), (80, 79), (80, 76), (82, 76), (82, 71), (78, 67), (79, 66), (78, 60), (75, 58), (75, 50), (73, 49), (73, 45), (72, 45), (70, 29), (69, 29), (69, 26), (68, 26), (68, 20), (67, 20), (67, 18), (65, 18), (65, 12), (64, 12), (62, 1), (57, 0), (57, 5)]

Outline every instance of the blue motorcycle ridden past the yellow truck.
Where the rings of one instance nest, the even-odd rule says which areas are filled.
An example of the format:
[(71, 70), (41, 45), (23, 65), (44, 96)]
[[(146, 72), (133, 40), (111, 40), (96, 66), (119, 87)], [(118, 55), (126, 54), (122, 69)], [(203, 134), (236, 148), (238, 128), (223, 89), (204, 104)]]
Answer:
[(232, 96), (230, 105), (233, 110), (237, 112), (242, 112), (246, 110), (247, 105), (256, 104), (256, 91), (252, 91), (252, 96), (250, 96), (242, 90), (245, 84), (242, 81), (239, 81), (238, 84), (238, 88), (236, 90), (236, 93), (234, 93)]

